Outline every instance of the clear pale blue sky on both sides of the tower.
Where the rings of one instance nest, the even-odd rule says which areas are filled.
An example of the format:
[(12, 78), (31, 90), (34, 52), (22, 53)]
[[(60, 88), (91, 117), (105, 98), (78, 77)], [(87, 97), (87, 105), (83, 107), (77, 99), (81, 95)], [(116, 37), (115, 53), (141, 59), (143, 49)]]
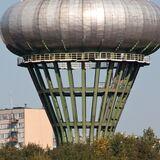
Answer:
[[(0, 18), (6, 8), (18, 0), (0, 0)], [(160, 3), (160, 0), (155, 0)], [(17, 56), (0, 42), (0, 108), (40, 107), (41, 102), (25, 68), (17, 67)], [(142, 134), (151, 126), (160, 137), (160, 50), (151, 55), (150, 66), (141, 68), (117, 131)]]

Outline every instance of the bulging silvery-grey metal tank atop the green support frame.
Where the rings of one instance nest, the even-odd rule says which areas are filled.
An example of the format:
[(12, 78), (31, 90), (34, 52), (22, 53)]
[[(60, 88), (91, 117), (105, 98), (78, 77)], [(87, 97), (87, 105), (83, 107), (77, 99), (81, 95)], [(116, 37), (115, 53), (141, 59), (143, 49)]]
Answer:
[(6, 11), (1, 32), (7, 48), (19, 56), (148, 55), (160, 46), (160, 8), (148, 0), (26, 0)]

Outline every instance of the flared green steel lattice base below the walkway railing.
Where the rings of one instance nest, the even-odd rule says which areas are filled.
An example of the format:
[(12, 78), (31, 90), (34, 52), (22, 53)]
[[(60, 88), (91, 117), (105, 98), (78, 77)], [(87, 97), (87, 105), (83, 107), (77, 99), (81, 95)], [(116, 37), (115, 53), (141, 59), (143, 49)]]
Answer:
[[(62, 63), (65, 69), (60, 67)], [(145, 65), (108, 60), (90, 62), (95, 67), (86, 67), (87, 61), (77, 63), (77, 69), (72, 61), (30, 61), (24, 65), (52, 124), (57, 145), (93, 142), (112, 135), (139, 68)]]

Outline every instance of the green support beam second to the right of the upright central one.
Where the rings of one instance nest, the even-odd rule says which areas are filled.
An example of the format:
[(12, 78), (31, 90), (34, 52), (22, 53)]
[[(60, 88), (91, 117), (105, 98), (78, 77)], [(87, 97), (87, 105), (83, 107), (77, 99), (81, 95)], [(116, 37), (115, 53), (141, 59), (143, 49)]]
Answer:
[(111, 78), (112, 78), (111, 75), (112, 75), (112, 72), (113, 72), (113, 68), (114, 68), (114, 62), (109, 62), (109, 66), (108, 66), (107, 74), (106, 74), (106, 80), (105, 80), (105, 93), (104, 93), (104, 96), (102, 98), (102, 104), (101, 104), (100, 114), (99, 114), (99, 126), (98, 126), (98, 131), (97, 131), (98, 138), (101, 137), (103, 117), (104, 117), (106, 107), (107, 107), (106, 103), (107, 103), (109, 85), (110, 85)]

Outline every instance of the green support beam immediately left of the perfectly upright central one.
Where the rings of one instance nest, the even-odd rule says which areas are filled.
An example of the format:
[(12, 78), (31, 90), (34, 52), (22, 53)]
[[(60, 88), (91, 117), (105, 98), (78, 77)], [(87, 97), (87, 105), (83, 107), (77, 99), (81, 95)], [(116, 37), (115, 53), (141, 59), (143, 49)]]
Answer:
[(75, 131), (75, 142), (79, 142), (79, 131), (78, 131), (78, 115), (77, 115), (77, 107), (76, 107), (76, 98), (74, 95), (74, 80), (73, 73), (71, 68), (71, 62), (67, 62), (68, 69), (68, 79), (69, 79), (69, 88), (71, 94), (71, 105), (72, 105), (72, 114), (73, 114), (73, 123), (74, 123), (74, 131)]

